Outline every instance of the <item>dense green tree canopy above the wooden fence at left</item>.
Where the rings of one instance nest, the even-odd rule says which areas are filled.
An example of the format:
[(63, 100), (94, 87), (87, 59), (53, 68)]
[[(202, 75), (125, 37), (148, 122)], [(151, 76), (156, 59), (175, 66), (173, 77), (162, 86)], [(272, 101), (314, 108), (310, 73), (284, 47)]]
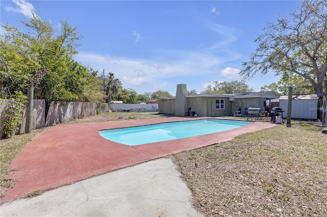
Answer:
[(77, 29), (66, 21), (56, 34), (49, 21), (33, 14), (22, 21), (28, 31), (3, 25), (0, 40), (0, 98), (13, 91), (27, 93), (35, 85), (34, 97), (47, 101), (91, 101), (98, 90), (97, 71), (82, 66), (73, 57), (78, 53)]

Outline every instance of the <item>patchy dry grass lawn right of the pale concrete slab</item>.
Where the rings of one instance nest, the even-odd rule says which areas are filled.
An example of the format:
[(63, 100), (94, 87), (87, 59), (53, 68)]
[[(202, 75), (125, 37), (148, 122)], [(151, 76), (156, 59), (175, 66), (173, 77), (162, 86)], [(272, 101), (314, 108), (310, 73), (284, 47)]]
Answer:
[(205, 216), (327, 216), (327, 135), (292, 121), (171, 155)]

